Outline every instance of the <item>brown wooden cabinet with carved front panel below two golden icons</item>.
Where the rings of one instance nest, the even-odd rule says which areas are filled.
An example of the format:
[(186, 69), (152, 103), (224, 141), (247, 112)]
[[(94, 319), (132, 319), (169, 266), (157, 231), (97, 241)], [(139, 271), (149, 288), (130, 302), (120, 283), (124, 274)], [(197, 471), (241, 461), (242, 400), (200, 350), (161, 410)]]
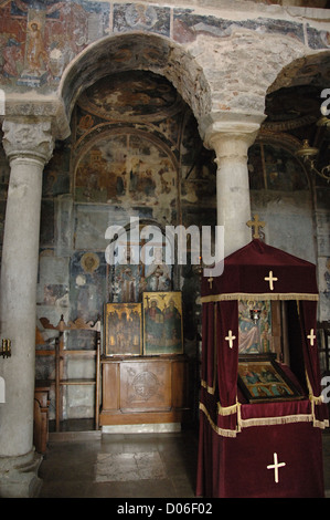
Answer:
[(100, 426), (182, 423), (190, 415), (184, 355), (102, 358)]

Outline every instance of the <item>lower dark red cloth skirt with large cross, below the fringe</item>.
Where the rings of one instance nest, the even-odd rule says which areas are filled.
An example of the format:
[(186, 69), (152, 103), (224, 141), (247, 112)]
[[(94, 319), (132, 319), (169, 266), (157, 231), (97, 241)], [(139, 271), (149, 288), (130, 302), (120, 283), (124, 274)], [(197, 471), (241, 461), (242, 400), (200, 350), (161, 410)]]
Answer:
[[(196, 496), (323, 498), (321, 430), (310, 423), (252, 427), (220, 437), (201, 417)], [(278, 462), (275, 481), (274, 454)]]

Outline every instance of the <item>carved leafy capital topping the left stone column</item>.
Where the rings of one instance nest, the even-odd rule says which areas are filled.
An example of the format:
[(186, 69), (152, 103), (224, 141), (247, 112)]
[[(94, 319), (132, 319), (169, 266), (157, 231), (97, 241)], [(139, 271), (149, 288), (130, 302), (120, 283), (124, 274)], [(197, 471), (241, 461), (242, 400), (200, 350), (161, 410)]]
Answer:
[(6, 119), (2, 125), (3, 148), (10, 160), (29, 157), (46, 164), (52, 157), (54, 139), (51, 122)]

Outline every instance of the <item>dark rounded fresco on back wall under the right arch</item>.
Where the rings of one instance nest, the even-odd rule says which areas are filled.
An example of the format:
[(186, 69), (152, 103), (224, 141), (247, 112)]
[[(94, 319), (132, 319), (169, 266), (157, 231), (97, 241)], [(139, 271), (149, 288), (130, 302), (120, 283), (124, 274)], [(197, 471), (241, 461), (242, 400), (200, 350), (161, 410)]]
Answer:
[(279, 146), (252, 146), (248, 154), (248, 174), (251, 189), (296, 191), (309, 188), (300, 163)]

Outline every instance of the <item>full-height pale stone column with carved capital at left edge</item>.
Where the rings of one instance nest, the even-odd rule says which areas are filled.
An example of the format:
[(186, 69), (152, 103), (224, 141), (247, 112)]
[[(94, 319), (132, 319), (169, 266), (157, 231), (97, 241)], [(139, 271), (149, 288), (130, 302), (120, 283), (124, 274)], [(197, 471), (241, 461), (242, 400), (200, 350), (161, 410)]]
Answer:
[(1, 262), (1, 337), (11, 357), (0, 358), (6, 403), (0, 405), (0, 497), (35, 496), (41, 459), (33, 448), (35, 303), (42, 174), (53, 152), (50, 122), (4, 121), (10, 162)]

